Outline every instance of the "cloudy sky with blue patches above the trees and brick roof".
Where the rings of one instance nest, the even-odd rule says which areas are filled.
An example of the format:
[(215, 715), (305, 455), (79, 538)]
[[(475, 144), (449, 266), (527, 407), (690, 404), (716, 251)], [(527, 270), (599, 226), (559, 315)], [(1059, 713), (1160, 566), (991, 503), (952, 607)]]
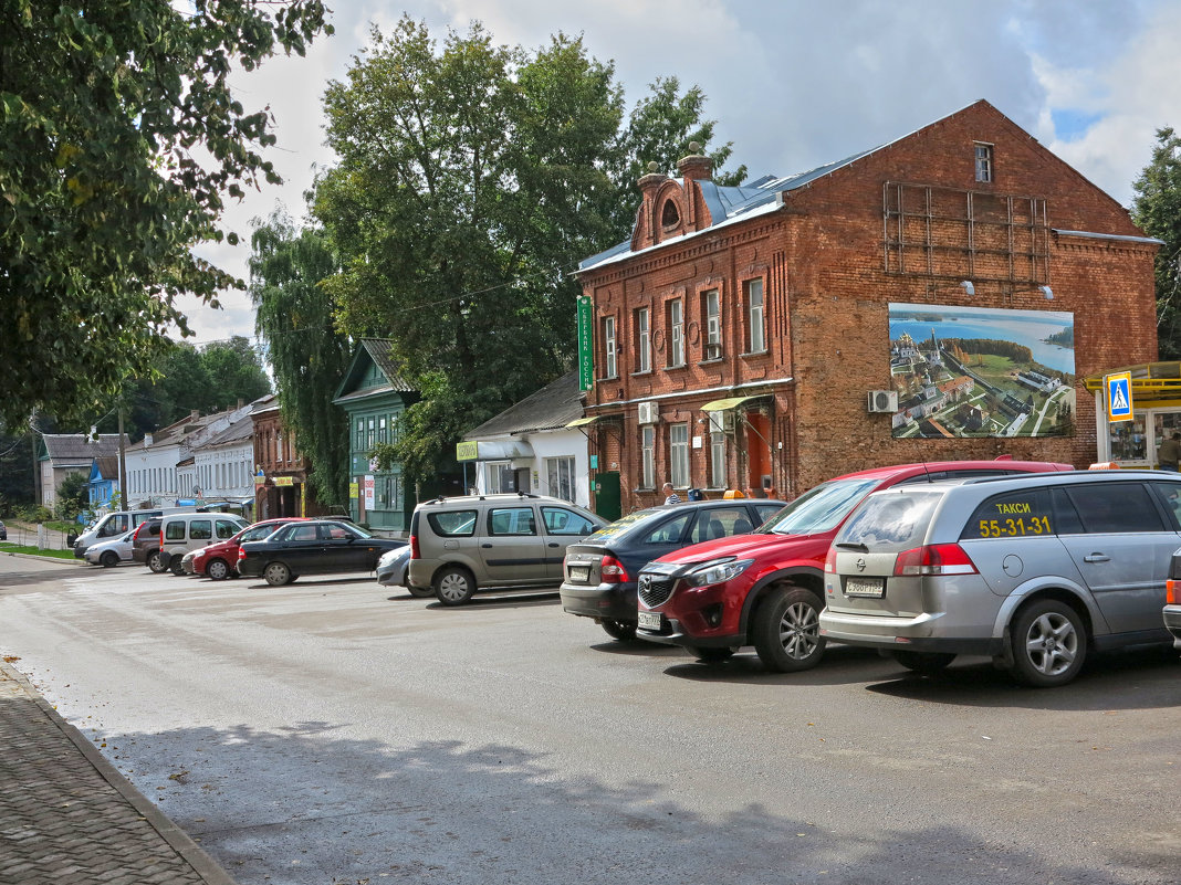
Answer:
[[(198, 250), (248, 278), (254, 219), (306, 215), (324, 145), (324, 91), (403, 13), (439, 38), (483, 22), (497, 42), (536, 48), (581, 34), (613, 60), (628, 104), (658, 77), (696, 84), (718, 143), (751, 178), (790, 175), (892, 142), (986, 99), (1121, 204), (1151, 158), (1156, 130), (1181, 129), (1181, 0), (327, 0), (335, 34), (307, 55), (275, 57), (234, 83), (247, 110), (269, 107), (268, 152), (282, 185), (230, 203), (243, 245)], [(673, 170), (668, 170), (673, 171)], [(637, 198), (639, 195), (637, 195)], [(182, 301), (197, 345), (254, 336), (244, 293), (223, 309)]]

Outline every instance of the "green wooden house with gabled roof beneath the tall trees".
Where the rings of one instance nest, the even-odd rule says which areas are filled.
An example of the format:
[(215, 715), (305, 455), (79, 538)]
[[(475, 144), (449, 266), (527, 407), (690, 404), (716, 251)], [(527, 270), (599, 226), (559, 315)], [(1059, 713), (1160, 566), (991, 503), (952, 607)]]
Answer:
[(418, 399), (398, 374), (393, 342), (361, 339), (333, 402), (348, 415), (348, 506), (358, 523), (385, 533), (410, 529), (415, 491), (406, 489), (402, 467), (377, 470), (370, 452), (394, 440), (398, 418)]

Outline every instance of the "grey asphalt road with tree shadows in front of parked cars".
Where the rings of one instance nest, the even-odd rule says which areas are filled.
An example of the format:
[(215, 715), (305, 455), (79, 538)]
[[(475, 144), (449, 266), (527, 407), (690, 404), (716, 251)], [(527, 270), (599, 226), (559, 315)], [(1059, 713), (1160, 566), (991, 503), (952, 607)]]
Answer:
[(1175, 651), (1038, 691), (707, 667), (554, 595), (2, 556), (0, 588), (0, 651), (243, 885), (1181, 881)]

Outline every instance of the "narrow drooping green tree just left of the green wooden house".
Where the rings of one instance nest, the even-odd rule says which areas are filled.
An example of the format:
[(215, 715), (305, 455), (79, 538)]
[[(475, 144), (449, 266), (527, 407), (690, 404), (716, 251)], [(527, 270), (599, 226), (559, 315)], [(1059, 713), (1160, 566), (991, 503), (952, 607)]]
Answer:
[(295, 230), (274, 212), (252, 238), (250, 296), (267, 342), (283, 422), (312, 461), (308, 484), (322, 504), (348, 503), (348, 427), (332, 402), (348, 368), (348, 339), (321, 287), (339, 268), (322, 231)]

